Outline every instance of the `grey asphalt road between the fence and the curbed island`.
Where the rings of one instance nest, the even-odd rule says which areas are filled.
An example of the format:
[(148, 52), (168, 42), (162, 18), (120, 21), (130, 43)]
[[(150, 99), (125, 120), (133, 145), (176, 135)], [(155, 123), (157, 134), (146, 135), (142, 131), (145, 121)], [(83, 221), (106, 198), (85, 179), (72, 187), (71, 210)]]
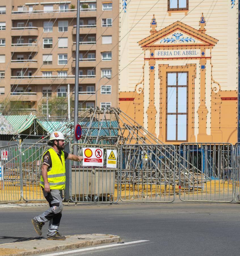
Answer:
[[(37, 236), (31, 218), (45, 208), (0, 207), (0, 236)], [(60, 233), (149, 240), (71, 255), (239, 255), (239, 215), (240, 205), (235, 203), (73, 204), (64, 206)], [(43, 235), (46, 232), (47, 225)]]

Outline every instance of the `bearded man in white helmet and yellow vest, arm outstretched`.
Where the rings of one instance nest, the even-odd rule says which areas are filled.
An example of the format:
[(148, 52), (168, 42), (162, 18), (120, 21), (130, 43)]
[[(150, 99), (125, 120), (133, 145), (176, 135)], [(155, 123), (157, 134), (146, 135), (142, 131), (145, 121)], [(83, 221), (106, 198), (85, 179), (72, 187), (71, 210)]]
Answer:
[(39, 236), (42, 234), (42, 227), (49, 221), (47, 232), (48, 240), (65, 240), (66, 237), (58, 232), (62, 217), (62, 190), (65, 189), (65, 159), (82, 161), (82, 156), (69, 154), (64, 149), (64, 136), (61, 132), (55, 131), (50, 134), (48, 145), (51, 146), (43, 155), (42, 175), (40, 185), (43, 195), (47, 199), (50, 208), (32, 219), (32, 224)]

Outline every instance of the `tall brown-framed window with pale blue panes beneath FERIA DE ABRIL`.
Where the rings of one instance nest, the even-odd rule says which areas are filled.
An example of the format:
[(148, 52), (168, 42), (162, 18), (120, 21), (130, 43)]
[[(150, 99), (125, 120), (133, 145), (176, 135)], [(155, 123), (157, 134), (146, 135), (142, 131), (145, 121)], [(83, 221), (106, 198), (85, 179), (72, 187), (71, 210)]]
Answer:
[(167, 141), (187, 140), (188, 73), (167, 73)]

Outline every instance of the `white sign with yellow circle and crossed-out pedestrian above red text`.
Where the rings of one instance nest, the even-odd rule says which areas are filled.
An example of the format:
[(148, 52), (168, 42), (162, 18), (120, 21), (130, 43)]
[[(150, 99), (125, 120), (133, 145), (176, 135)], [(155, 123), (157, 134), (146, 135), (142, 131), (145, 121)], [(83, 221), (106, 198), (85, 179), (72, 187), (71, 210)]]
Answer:
[(103, 166), (103, 148), (83, 148), (83, 166)]

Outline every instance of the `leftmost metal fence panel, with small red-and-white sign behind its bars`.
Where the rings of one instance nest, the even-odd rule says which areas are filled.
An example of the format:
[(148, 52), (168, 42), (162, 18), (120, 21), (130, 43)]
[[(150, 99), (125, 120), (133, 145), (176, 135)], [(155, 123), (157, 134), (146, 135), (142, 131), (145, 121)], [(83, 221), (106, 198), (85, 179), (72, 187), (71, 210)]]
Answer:
[(0, 203), (20, 201), (22, 196), (19, 145), (0, 147), (0, 156)]

